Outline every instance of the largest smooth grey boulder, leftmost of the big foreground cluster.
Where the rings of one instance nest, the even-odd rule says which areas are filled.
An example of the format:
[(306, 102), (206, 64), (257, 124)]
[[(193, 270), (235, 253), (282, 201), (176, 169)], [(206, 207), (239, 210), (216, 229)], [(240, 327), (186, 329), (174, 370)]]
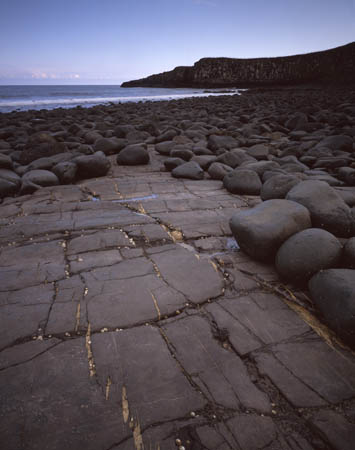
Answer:
[(288, 200), (267, 200), (234, 214), (230, 228), (240, 248), (252, 258), (272, 261), (283, 242), (311, 227), (309, 211)]

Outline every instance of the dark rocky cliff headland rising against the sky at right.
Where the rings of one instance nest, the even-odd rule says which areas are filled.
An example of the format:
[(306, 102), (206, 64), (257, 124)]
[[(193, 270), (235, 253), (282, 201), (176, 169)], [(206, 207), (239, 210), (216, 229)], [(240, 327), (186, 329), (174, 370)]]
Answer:
[(128, 81), (122, 87), (252, 87), (355, 82), (355, 42), (322, 52), (278, 58), (202, 58), (192, 67)]

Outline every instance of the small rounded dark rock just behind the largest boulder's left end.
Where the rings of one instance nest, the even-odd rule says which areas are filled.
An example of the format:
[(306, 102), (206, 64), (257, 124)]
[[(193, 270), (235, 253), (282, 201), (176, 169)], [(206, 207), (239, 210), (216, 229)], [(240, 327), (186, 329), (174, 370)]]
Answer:
[(237, 168), (223, 178), (223, 186), (232, 194), (259, 195), (261, 181), (253, 170)]

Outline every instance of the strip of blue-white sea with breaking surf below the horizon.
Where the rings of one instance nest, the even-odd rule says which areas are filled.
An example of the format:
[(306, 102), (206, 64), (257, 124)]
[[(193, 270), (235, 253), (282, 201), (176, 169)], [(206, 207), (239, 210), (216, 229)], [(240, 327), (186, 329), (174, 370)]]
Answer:
[[(238, 93), (237, 89), (231, 91), (231, 95)], [(218, 89), (211, 93), (203, 89), (121, 88), (118, 85), (0, 86), (0, 112), (72, 108), (79, 105), (90, 107), (110, 102), (172, 100), (222, 94)]]

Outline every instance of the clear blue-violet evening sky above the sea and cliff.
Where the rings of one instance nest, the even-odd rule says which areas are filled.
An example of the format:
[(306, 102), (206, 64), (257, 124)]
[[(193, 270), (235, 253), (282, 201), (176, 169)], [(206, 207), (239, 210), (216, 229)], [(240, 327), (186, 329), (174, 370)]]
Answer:
[(0, 84), (120, 84), (355, 41), (355, 0), (1, 0)]

